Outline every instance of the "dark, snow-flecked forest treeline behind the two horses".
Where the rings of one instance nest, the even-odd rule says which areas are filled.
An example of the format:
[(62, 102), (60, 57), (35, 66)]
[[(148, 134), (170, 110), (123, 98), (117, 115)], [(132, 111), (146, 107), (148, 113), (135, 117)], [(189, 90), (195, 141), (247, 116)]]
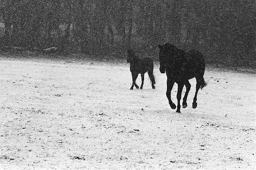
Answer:
[(208, 62), (255, 66), (255, 0), (0, 0), (0, 46), (157, 57), (170, 42)]

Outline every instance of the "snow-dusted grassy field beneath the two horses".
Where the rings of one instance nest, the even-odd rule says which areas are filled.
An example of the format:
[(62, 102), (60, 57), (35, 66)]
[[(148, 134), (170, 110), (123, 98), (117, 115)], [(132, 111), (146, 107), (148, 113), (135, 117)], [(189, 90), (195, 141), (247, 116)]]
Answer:
[(158, 68), (132, 91), (124, 60), (1, 58), (0, 169), (255, 169), (256, 74), (207, 67), (176, 113)]

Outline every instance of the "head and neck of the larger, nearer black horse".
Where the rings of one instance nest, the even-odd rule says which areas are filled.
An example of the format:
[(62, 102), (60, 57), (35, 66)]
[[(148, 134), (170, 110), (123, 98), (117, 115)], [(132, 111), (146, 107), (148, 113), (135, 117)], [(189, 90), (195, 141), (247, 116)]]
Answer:
[(159, 48), (159, 64), (160, 64), (160, 72), (165, 73), (166, 66), (169, 64), (169, 61), (171, 60), (170, 56), (173, 56), (175, 53), (177, 47), (166, 43), (164, 45), (158, 45)]

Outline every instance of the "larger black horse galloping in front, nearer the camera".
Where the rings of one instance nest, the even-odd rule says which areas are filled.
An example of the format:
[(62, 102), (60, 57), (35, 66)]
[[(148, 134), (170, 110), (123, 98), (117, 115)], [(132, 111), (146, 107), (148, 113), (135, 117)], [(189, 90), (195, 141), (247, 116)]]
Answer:
[(166, 43), (165, 45), (158, 45), (159, 50), (159, 64), (160, 72), (167, 76), (167, 91), (166, 96), (169, 100), (170, 107), (176, 108), (176, 105), (171, 101), (171, 90), (174, 82), (178, 84), (177, 92), (177, 110), (180, 113), (180, 99), (183, 86), (186, 86), (186, 93), (183, 98), (182, 107), (187, 107), (187, 95), (190, 90), (189, 79), (196, 78), (196, 91), (192, 108), (197, 107), (197, 93), (199, 88), (207, 85), (204, 81), (203, 75), (205, 70), (205, 59), (202, 53), (197, 50), (189, 50), (184, 52), (176, 46)]

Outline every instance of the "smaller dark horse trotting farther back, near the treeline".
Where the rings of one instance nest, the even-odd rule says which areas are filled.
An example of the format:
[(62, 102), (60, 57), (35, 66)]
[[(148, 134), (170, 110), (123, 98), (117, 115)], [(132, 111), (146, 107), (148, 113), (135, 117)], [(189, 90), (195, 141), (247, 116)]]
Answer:
[(150, 81), (152, 83), (152, 88), (155, 89), (155, 76), (153, 73), (154, 65), (153, 60), (149, 57), (146, 58), (138, 58), (135, 55), (135, 52), (133, 50), (127, 51), (127, 62), (130, 63), (130, 71), (132, 73), (132, 86), (130, 90), (133, 90), (133, 86), (138, 89), (139, 86), (136, 85), (136, 79), (138, 77), (138, 74), (141, 75), (141, 86), (140, 89), (143, 88), (144, 84), (144, 74), (148, 72), (148, 77), (150, 78)]

